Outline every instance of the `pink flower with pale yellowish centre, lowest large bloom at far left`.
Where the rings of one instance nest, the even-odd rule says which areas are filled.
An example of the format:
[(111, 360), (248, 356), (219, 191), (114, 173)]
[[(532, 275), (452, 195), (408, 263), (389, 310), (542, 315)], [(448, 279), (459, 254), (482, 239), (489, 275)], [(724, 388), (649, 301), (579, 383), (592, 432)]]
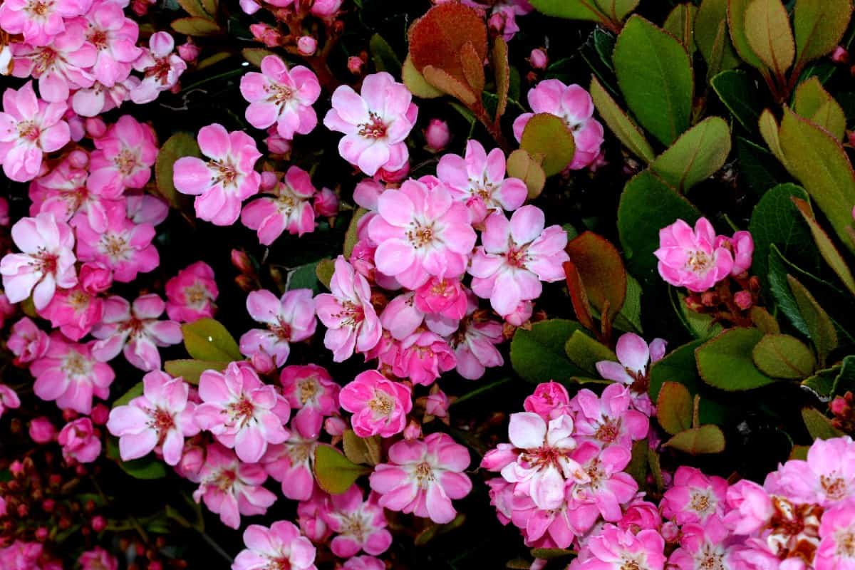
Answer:
[(91, 412), (92, 397), (106, 400), (115, 379), (113, 369), (92, 356), (91, 343), (68, 343), (58, 332), (50, 338), (50, 353), (34, 361), (30, 373), (36, 396), (80, 414)]

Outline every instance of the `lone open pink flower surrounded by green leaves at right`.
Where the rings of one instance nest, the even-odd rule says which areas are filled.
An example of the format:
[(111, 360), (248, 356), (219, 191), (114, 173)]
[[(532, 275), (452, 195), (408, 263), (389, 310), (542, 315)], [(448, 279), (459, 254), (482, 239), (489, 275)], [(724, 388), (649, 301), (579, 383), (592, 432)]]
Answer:
[(694, 231), (683, 220), (659, 230), (659, 260), (662, 279), (675, 287), (702, 292), (728, 277), (734, 256), (723, 244), (716, 245), (716, 231), (706, 218), (695, 223)]

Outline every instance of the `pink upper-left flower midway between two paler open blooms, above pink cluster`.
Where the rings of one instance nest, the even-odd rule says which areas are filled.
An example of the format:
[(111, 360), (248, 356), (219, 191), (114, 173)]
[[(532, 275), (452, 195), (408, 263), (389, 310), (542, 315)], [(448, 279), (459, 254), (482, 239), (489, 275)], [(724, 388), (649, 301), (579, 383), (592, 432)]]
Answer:
[(131, 115), (121, 115), (103, 137), (94, 140), (86, 187), (106, 198), (126, 188), (142, 188), (151, 178), (157, 157), (154, 130)]

